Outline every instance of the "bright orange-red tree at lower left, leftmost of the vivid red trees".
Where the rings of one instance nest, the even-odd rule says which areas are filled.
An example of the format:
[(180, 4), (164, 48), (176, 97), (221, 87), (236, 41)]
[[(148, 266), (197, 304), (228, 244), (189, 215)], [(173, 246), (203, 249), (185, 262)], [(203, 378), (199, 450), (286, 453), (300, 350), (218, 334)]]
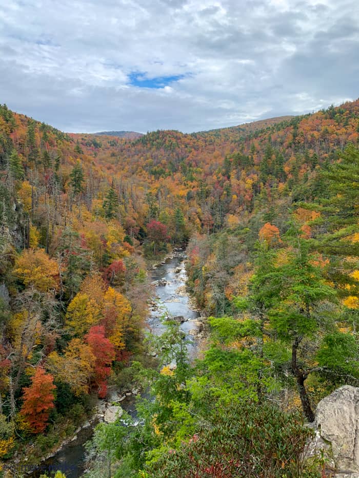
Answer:
[(31, 385), (24, 388), (24, 404), (21, 414), (33, 433), (45, 430), (49, 419), (50, 410), (54, 408), (54, 394), (56, 386), (53, 384), (52, 375), (37, 367), (35, 375), (31, 378)]

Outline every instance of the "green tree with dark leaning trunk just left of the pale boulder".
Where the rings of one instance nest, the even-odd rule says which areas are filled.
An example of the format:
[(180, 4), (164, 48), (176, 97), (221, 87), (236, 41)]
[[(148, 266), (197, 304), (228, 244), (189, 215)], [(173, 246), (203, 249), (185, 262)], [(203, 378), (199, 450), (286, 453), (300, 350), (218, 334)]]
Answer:
[(308, 243), (298, 237), (296, 243), (283, 265), (267, 271), (267, 283), (276, 294), (268, 315), (271, 335), (289, 346), (287, 369), (296, 381), (304, 414), (313, 422), (305, 381), (318, 370), (312, 365), (315, 339), (325, 333), (329, 324), (334, 326), (325, 310), (334, 302), (335, 290), (326, 284), (321, 267), (315, 265), (316, 257), (309, 254)]

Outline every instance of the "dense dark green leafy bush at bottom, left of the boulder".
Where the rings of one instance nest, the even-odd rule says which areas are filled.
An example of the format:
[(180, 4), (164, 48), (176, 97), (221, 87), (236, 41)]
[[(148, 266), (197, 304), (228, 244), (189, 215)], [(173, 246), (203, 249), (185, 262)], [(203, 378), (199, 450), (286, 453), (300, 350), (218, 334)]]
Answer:
[(300, 414), (233, 404), (146, 472), (149, 478), (311, 478), (317, 475), (304, 470), (303, 452), (312, 433)]

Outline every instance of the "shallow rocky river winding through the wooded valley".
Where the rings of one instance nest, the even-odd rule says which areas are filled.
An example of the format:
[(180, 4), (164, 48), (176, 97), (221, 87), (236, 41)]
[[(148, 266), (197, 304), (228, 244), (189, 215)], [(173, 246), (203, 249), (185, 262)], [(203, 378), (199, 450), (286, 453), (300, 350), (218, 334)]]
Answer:
[[(197, 340), (195, 337), (201, 330), (201, 322), (198, 322), (197, 311), (190, 306), (190, 301), (185, 293), (186, 270), (185, 254), (183, 251), (175, 251), (163, 263), (151, 271), (151, 278), (154, 284), (154, 297), (148, 318), (148, 325), (151, 332), (161, 335), (166, 325), (163, 324), (163, 316), (183, 317), (180, 325), (185, 332), (186, 338), (190, 341), (187, 345), (189, 355), (194, 356), (197, 351)], [(121, 404), (128, 413), (135, 415), (135, 399), (129, 398)], [(76, 438), (64, 445), (54, 456), (42, 463), (41, 469), (37, 469), (28, 476), (38, 478), (45, 469), (62, 470), (67, 478), (78, 478), (85, 470), (85, 443), (91, 439), (93, 423), (83, 428), (76, 434)]]

